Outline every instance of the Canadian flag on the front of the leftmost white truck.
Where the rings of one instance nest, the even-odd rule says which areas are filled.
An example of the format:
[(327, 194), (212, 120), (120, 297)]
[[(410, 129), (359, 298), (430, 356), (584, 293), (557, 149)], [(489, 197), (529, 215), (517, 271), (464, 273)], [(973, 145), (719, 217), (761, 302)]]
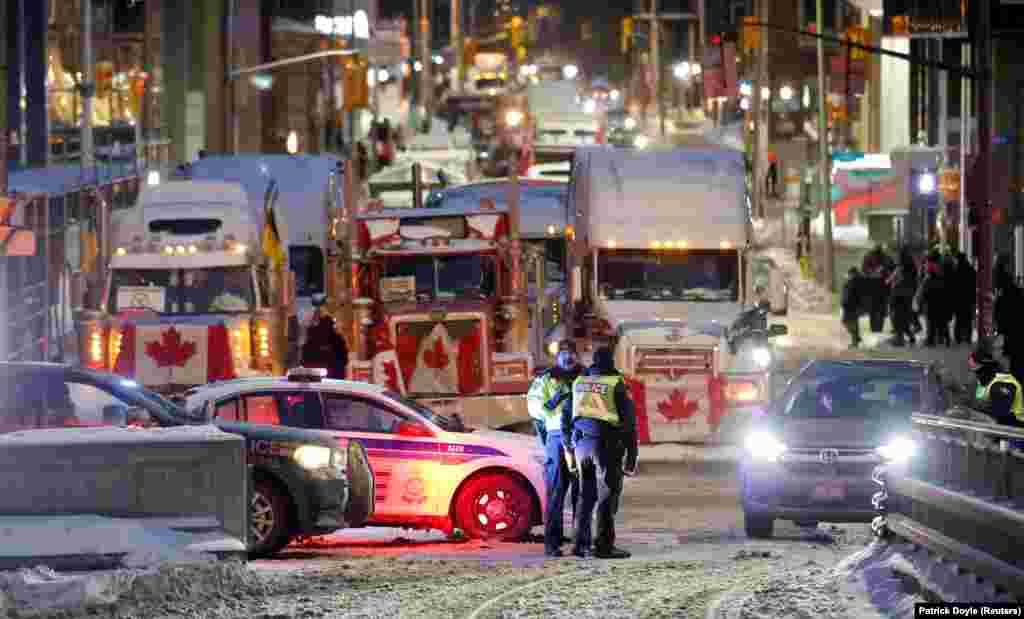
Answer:
[(236, 377), (222, 324), (125, 324), (114, 371), (146, 386), (206, 384)]

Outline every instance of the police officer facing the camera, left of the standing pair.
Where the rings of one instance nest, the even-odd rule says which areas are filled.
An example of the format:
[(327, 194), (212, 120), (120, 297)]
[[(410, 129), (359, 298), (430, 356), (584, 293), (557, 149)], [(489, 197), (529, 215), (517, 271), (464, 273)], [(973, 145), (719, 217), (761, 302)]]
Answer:
[(555, 367), (536, 379), (526, 395), (529, 416), (537, 427), (537, 436), (544, 446), (544, 481), (547, 488), (548, 504), (544, 517), (544, 553), (561, 556), (565, 510), (565, 494), (572, 488), (572, 514), (575, 517), (579, 486), (574, 476), (569, 473), (567, 457), (563, 455), (562, 409), (569, 406), (572, 396), (572, 381), (580, 375), (575, 344), (562, 340), (558, 344)]

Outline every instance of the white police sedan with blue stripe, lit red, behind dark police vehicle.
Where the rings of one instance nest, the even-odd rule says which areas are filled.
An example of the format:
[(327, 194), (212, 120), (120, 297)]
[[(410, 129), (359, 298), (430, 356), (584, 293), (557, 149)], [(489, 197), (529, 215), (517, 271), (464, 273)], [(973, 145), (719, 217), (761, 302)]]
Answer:
[(544, 452), (536, 438), (467, 428), (381, 385), (325, 376), (297, 368), (284, 378), (211, 383), (193, 389), (185, 406), (206, 419), (358, 441), (376, 480), (370, 526), (517, 540), (542, 523)]

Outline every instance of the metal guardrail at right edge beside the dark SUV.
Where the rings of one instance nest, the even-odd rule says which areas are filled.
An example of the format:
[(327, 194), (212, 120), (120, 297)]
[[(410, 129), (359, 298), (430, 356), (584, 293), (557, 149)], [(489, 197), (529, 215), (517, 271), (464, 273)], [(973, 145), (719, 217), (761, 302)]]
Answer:
[(1024, 599), (1024, 430), (931, 415), (912, 418), (918, 453), (874, 471), (880, 537), (902, 538)]

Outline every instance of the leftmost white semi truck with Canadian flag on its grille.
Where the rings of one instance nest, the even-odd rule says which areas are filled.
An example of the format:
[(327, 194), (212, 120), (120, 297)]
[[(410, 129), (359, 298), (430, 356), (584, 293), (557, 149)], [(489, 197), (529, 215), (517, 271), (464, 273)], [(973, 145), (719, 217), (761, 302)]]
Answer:
[(157, 182), (101, 222), (105, 280), (76, 300), (83, 365), (168, 395), (294, 366), (295, 277), (275, 195), (268, 182), (260, 208), (234, 182)]

